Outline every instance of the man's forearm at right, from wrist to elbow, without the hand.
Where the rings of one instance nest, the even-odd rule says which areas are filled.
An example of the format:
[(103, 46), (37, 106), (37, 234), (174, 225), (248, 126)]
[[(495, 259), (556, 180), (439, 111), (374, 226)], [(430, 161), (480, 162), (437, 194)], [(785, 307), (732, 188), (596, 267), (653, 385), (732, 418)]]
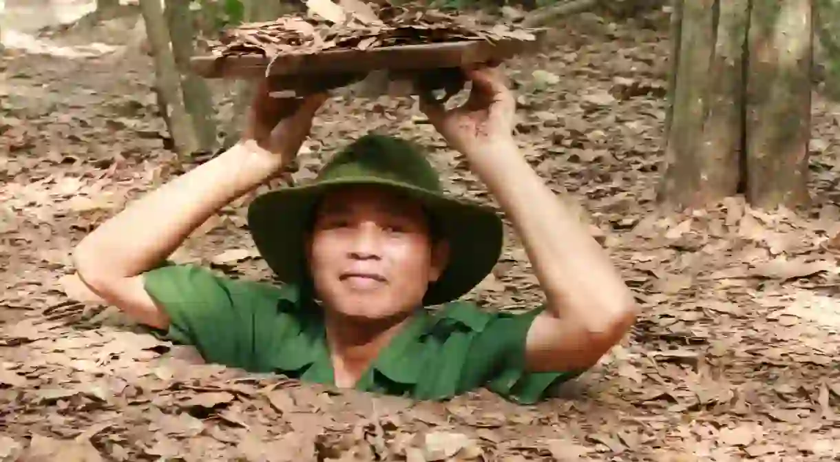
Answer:
[(468, 158), (521, 237), (547, 310), (593, 332), (627, 318), (633, 297), (609, 256), (516, 145), (497, 144), (497, 149)]

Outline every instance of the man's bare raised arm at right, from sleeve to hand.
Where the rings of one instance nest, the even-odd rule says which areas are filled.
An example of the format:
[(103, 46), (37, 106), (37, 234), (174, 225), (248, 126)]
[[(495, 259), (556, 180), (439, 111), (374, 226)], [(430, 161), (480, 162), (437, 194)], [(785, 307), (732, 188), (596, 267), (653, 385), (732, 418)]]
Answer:
[(601, 245), (517, 149), (515, 101), (501, 70), (468, 74), (473, 87), (464, 106), (445, 110), (424, 99), (421, 107), (511, 219), (545, 293), (546, 309), (528, 330), (527, 369), (585, 369), (633, 324), (633, 296)]

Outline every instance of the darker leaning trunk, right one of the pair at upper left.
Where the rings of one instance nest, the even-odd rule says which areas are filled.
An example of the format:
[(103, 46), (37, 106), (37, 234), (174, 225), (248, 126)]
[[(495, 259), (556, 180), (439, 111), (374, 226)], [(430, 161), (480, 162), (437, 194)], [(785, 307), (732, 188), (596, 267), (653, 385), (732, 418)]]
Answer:
[(213, 152), (217, 145), (213, 96), (207, 88), (207, 81), (190, 68), (192, 39), (195, 37), (190, 0), (166, 0), (165, 17), (172, 41), (172, 53), (181, 76), (184, 106), (192, 118), (199, 149)]

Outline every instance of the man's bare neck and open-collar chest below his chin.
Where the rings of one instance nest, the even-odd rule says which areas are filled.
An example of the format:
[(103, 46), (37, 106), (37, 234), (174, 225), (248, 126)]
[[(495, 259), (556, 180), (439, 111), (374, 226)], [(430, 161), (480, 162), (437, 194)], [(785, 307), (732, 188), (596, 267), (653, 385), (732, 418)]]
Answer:
[(371, 322), (325, 310), (324, 323), (335, 385), (341, 388), (354, 386), (380, 351), (411, 320), (412, 314)]

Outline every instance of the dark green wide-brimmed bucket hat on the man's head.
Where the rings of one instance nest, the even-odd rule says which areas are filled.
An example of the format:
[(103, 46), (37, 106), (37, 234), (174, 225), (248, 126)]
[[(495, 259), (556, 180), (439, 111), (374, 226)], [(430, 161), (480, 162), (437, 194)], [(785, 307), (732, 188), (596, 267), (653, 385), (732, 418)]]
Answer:
[(451, 302), (490, 273), (502, 247), (502, 223), (491, 207), (444, 193), (438, 172), (412, 143), (366, 134), (324, 165), (307, 185), (267, 192), (248, 209), (248, 226), (260, 255), (284, 283), (310, 281), (305, 235), (313, 207), (324, 192), (340, 186), (394, 188), (423, 204), (449, 241), (449, 265), (428, 286), (426, 306)]

